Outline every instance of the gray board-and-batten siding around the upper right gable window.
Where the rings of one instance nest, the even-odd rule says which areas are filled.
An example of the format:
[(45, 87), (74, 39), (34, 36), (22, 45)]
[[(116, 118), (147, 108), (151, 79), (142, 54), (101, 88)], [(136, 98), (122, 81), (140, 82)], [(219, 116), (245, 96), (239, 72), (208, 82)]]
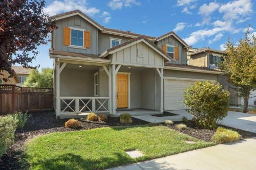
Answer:
[(157, 46), (162, 49), (162, 46), (168, 44), (168, 45), (174, 45), (178, 46), (179, 48), (179, 60), (178, 61), (170, 61), (174, 64), (186, 64), (186, 49), (183, 48), (183, 44), (178, 41), (174, 36), (168, 36), (160, 41), (157, 41)]

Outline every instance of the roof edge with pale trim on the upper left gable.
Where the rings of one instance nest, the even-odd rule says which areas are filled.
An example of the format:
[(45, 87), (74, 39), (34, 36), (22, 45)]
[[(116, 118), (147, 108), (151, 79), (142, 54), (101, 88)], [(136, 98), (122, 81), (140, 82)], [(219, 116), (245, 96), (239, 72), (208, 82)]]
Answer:
[(96, 22), (95, 20), (93, 20), (92, 18), (90, 18), (89, 16), (87, 16), (86, 14), (81, 12), (80, 10), (74, 10), (74, 11), (65, 12), (65, 13), (62, 13), (62, 14), (51, 16), (49, 18), (50, 19), (54, 19), (54, 20), (59, 20), (59, 19), (70, 17), (70, 16), (74, 16), (74, 15), (81, 16), (83, 19), (85, 19), (88, 22), (90, 22), (93, 26), (98, 28), (100, 31), (104, 30), (103, 26), (101, 26), (98, 22)]

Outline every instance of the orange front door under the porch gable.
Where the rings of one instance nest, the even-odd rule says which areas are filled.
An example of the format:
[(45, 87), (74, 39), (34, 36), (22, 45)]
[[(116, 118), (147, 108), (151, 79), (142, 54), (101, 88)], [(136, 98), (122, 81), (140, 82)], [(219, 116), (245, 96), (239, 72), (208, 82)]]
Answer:
[(128, 107), (128, 75), (117, 74), (116, 79), (117, 108)]

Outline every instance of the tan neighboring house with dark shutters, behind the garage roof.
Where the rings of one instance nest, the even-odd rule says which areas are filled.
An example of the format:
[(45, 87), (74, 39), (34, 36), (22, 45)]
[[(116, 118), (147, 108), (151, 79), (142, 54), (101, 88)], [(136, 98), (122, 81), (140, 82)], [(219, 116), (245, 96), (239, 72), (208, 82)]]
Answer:
[[(189, 64), (208, 67), (212, 69), (219, 70), (220, 64), (223, 61), (223, 55), (225, 51), (214, 50), (211, 48), (200, 48), (193, 53), (189, 53)], [(234, 85), (228, 82), (228, 77), (225, 75), (220, 75), (218, 81), (223, 86), (224, 89), (228, 90), (230, 93), (230, 105), (241, 105), (241, 98), (238, 98), (238, 90)]]

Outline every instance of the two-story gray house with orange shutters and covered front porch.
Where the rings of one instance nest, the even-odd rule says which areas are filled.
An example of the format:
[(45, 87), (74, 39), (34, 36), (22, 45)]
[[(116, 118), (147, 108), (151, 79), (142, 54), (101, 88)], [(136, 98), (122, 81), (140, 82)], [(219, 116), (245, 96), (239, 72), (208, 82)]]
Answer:
[(187, 65), (191, 46), (174, 32), (152, 37), (108, 29), (79, 10), (51, 19), (58, 27), (51, 34), (49, 55), (60, 118), (188, 109), (182, 90), (196, 81), (218, 81), (222, 74)]

